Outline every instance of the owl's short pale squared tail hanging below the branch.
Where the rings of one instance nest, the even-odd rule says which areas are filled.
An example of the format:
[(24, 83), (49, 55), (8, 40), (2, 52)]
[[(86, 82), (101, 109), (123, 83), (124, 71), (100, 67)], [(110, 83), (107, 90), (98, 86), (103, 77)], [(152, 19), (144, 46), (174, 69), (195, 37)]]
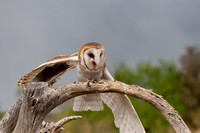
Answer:
[(100, 94), (87, 94), (78, 96), (74, 100), (74, 111), (100, 111), (103, 110), (103, 104)]

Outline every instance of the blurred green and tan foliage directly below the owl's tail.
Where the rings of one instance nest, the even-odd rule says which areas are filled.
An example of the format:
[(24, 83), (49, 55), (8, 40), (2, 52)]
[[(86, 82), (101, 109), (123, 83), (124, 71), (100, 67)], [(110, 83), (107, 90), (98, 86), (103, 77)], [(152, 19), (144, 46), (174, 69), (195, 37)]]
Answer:
[(81, 115), (82, 119), (71, 121), (64, 125), (63, 133), (117, 133), (111, 110), (104, 106), (103, 111), (74, 112), (72, 109), (62, 110), (60, 113), (48, 116), (46, 121), (57, 122), (67, 116)]

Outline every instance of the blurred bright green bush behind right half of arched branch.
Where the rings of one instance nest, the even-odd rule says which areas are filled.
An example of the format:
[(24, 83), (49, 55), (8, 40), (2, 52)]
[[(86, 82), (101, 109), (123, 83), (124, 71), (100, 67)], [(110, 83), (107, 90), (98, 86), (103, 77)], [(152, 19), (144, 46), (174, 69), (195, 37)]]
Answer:
[[(142, 62), (135, 69), (121, 63), (115, 70), (114, 78), (127, 84), (137, 84), (152, 89), (157, 94), (162, 95), (180, 115), (185, 115), (185, 105), (182, 103), (179, 93), (183, 86), (183, 80), (173, 62), (160, 60), (158, 65)], [(160, 133), (169, 129), (168, 122), (155, 108), (144, 101), (130, 99), (148, 132)]]

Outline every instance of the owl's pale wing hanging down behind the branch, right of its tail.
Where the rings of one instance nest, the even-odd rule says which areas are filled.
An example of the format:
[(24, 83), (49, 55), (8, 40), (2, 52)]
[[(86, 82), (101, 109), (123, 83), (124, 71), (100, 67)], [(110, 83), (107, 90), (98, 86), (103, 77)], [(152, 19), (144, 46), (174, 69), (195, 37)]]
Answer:
[[(114, 80), (107, 68), (104, 70), (103, 79)], [(128, 97), (120, 93), (103, 93), (101, 98), (112, 110), (115, 125), (120, 133), (145, 133), (144, 127)]]

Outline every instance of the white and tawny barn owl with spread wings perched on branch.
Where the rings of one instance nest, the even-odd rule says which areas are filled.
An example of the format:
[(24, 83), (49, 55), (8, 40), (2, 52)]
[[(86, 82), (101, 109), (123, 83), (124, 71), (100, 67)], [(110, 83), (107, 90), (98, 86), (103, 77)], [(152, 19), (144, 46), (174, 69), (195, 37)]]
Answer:
[[(104, 47), (96, 42), (85, 44), (79, 53), (59, 56), (46, 61), (23, 76), (18, 85), (47, 82), (53, 85), (66, 71), (77, 68), (78, 81), (114, 80), (106, 68)], [(128, 97), (119, 93), (87, 94), (74, 100), (74, 111), (103, 110), (102, 101), (112, 110), (120, 133), (145, 133), (142, 123)]]

